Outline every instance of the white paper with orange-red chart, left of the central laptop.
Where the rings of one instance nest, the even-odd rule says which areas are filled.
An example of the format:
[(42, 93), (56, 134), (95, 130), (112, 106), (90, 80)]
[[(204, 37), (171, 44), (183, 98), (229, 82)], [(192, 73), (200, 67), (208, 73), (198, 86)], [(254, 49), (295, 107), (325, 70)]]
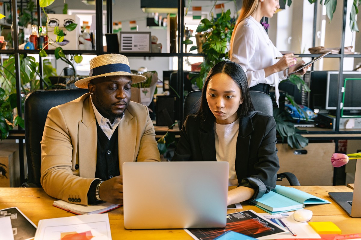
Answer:
[(59, 240), (65, 237), (92, 236), (92, 240), (111, 240), (107, 213), (84, 214), (73, 217), (39, 221), (34, 240)]

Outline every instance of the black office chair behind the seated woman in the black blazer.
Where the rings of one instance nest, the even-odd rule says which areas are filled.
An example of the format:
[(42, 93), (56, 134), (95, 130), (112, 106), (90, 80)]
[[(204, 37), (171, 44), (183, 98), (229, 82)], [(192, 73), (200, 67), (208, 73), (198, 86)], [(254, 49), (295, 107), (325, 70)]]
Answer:
[[(257, 111), (273, 116), (273, 104), (270, 96), (259, 91), (249, 91), (249, 93), (251, 95), (253, 106)], [(184, 98), (183, 121), (189, 114), (197, 112), (201, 95), (202, 90), (196, 90), (188, 93)], [(277, 174), (277, 181), (282, 181), (283, 178), (286, 178), (291, 186), (300, 186), (300, 182), (297, 177), (291, 172)]]

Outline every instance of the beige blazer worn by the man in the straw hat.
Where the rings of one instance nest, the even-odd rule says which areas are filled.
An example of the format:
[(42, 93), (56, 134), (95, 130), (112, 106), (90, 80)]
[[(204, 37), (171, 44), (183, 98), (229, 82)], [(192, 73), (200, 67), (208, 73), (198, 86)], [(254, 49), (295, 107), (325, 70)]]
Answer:
[[(97, 130), (90, 94), (49, 110), (42, 146), (41, 184), (50, 196), (87, 204), (95, 178)], [(148, 108), (130, 101), (118, 125), (119, 170), (134, 161), (160, 161)], [(74, 203), (74, 202), (72, 202)]]

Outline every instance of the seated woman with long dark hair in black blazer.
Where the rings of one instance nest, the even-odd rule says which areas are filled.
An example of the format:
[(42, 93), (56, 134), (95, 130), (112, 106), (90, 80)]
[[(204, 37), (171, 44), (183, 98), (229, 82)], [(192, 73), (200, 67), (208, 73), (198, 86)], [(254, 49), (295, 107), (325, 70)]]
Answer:
[(227, 203), (260, 198), (274, 189), (279, 161), (276, 123), (255, 111), (247, 77), (238, 64), (224, 61), (209, 71), (200, 107), (186, 118), (172, 161), (227, 161)]

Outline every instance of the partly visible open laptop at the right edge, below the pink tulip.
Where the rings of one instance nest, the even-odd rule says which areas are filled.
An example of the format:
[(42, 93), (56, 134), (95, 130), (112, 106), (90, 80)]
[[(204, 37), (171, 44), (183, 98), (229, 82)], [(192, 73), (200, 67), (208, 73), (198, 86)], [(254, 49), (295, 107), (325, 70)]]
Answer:
[(357, 159), (355, 185), (352, 192), (329, 193), (330, 197), (351, 217), (361, 217), (361, 160)]

